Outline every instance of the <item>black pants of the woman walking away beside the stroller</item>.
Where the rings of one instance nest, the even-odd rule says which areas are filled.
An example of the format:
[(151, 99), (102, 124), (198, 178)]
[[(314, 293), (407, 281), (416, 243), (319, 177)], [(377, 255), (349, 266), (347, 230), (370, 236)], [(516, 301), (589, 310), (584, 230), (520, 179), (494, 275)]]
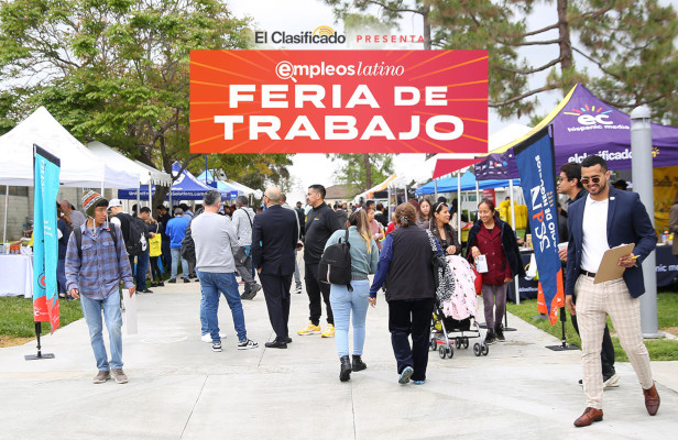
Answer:
[[(398, 374), (412, 366), (413, 381), (426, 380), (434, 298), (389, 301), (389, 331)], [(412, 348), (409, 334), (412, 333)]]

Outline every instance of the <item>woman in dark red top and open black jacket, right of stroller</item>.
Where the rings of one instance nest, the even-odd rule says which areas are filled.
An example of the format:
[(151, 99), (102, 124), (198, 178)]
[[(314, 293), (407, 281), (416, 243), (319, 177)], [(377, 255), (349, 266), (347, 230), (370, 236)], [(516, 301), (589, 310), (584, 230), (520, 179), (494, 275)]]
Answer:
[[(469, 231), (467, 258), (485, 255), (488, 272), (482, 274), (488, 336), (485, 343), (505, 341), (502, 319), (506, 312), (506, 287), (515, 275), (525, 276), (517, 240), (511, 226), (494, 216), (494, 202), (482, 199), (478, 204), (479, 219)], [(493, 309), (494, 314), (493, 314)]]

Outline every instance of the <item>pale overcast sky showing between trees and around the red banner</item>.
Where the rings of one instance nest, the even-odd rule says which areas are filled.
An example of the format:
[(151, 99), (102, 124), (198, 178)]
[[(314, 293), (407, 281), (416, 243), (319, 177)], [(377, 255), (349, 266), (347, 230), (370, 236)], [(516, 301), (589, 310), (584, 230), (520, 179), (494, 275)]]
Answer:
[[(320, 0), (231, 0), (229, 6), (233, 13), (239, 18), (250, 16), (254, 20), (253, 28), (262, 31), (286, 31), (288, 33), (298, 33), (302, 31), (313, 31), (319, 25), (329, 25), (337, 32), (343, 32), (341, 22), (335, 21), (332, 9), (326, 6)], [(537, 2), (534, 12), (528, 16), (531, 29), (538, 29), (557, 21), (556, 9), (553, 4), (544, 4)], [(404, 35), (420, 35), (422, 24), (420, 18), (415, 14), (406, 14), (401, 21), (401, 29), (393, 31), (393, 34)], [(550, 40), (557, 37), (557, 31), (550, 31), (540, 38)], [(275, 48), (275, 45), (272, 45)], [(318, 48), (313, 45), (294, 45), (295, 50)], [(324, 47), (325, 48), (325, 47)], [(342, 48), (346, 48), (342, 47)], [(407, 50), (422, 48), (422, 44), (402, 45), (398, 48)], [(539, 63), (545, 64), (557, 55), (557, 45), (551, 46), (532, 46), (522, 52), (524, 56), (528, 56), (534, 66)], [(580, 62), (579, 59), (577, 61)], [(548, 70), (547, 70), (548, 72)], [(546, 73), (534, 75), (532, 81), (537, 87), (544, 80)], [(562, 97), (560, 92), (543, 94), (539, 96), (538, 114), (547, 114), (560, 101)], [(490, 109), (489, 133), (494, 133), (507, 124), (523, 123), (528, 124), (528, 118), (514, 118), (508, 120), (500, 120), (496, 114)], [(424, 162), (423, 154), (400, 154), (396, 155), (394, 163), (396, 168), (403, 164), (414, 166)], [(331, 186), (332, 174), (337, 168), (337, 163), (330, 162), (324, 154), (297, 154), (294, 156), (294, 165), (291, 167), (291, 174), (298, 179), (299, 188), (291, 193), (288, 199), (298, 200), (305, 194), (306, 188), (313, 184), (321, 184)], [(376, 184), (376, 183), (375, 183)]]

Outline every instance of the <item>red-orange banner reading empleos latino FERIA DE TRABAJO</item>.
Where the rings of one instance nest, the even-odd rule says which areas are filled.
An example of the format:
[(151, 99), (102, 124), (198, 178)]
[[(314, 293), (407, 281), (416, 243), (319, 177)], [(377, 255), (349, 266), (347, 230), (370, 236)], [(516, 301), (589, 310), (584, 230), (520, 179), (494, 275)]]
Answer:
[(486, 51), (192, 51), (192, 153), (486, 153)]

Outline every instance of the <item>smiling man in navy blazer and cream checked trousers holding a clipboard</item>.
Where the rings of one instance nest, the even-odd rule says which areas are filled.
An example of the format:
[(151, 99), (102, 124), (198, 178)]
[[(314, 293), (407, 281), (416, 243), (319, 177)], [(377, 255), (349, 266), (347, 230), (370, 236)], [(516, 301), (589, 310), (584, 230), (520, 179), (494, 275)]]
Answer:
[[(597, 155), (586, 157), (581, 163), (581, 183), (589, 195), (568, 210), (566, 305), (579, 321), (587, 396), (587, 409), (575, 421), (576, 427), (603, 419), (600, 351), (608, 316), (638, 376), (647, 411), (654, 416), (659, 408), (649, 354), (643, 343), (639, 302), (645, 293), (639, 264), (654, 251), (657, 238), (638, 195), (611, 188), (609, 180), (608, 163)], [(635, 248), (617, 263), (626, 268), (623, 277), (593, 284), (605, 251), (625, 243), (634, 243)]]

